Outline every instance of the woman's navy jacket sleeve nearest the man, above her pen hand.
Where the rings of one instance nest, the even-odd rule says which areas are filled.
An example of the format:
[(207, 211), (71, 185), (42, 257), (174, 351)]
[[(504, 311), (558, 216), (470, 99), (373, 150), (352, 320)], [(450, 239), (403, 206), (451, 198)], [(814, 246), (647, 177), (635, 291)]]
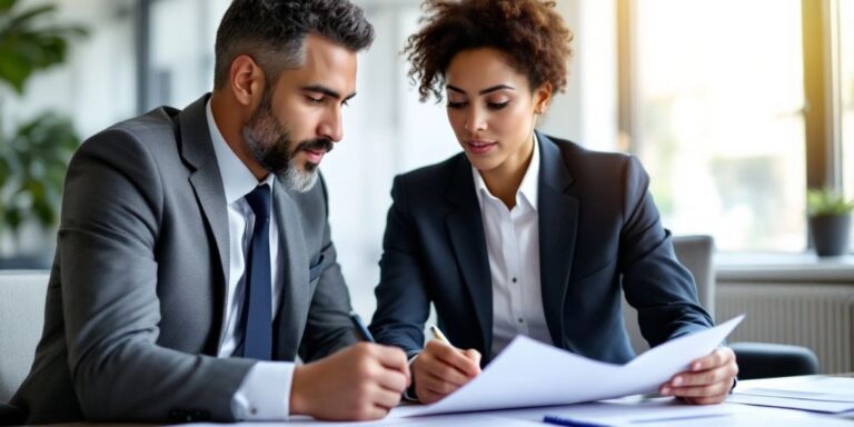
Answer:
[(413, 357), (424, 346), (424, 322), (430, 312), (430, 299), (404, 187), (404, 180), (395, 178), (379, 261), (379, 285), (375, 289), (377, 310), (370, 331), (377, 342), (398, 346)]

